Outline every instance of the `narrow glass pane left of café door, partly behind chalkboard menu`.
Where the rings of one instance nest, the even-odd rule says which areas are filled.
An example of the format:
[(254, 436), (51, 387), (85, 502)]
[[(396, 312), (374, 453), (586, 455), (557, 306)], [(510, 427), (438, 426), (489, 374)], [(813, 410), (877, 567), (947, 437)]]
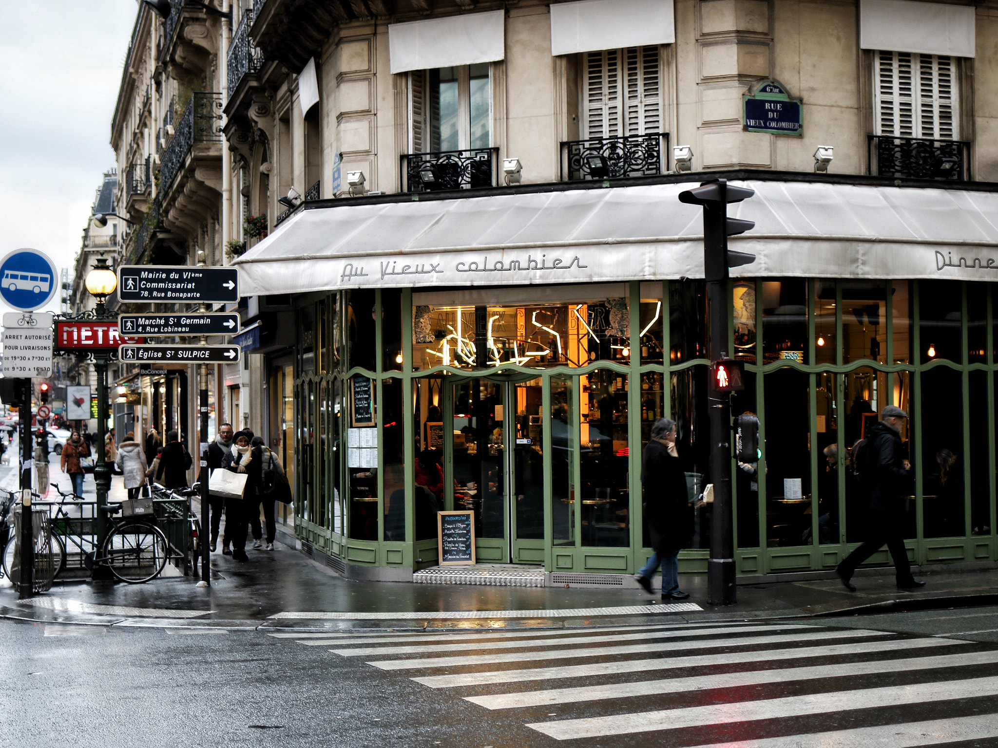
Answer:
[(415, 540), (428, 541), (437, 536), (437, 512), (446, 510), (446, 485), (443, 474), (443, 380), (416, 379), (412, 382), (416, 436), (415, 487), (412, 492), (415, 512)]

